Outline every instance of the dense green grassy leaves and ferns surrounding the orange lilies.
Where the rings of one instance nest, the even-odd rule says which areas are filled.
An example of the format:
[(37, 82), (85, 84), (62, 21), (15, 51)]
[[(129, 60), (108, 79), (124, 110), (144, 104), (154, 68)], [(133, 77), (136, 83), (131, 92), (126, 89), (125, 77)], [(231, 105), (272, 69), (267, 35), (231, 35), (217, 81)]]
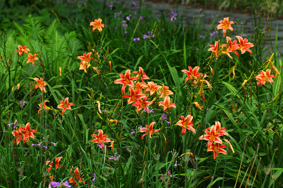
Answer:
[[(246, 36), (254, 44), (250, 48), (252, 56), (238, 50), (239, 58), (220, 54), (216, 59), (207, 51), (207, 45), (214, 45), (218, 39), (220, 44), (227, 43), (222, 29), (211, 36), (223, 18), (211, 20), (210, 29), (205, 31), (201, 12), (191, 25), (183, 26), (182, 17), (170, 21), (171, 11), (162, 12), (156, 20), (150, 9), (140, 10), (139, 3), (135, 7), (136, 15), (118, 4), (110, 9), (109, 5), (93, 1), (85, 5), (49, 3), (37, 2), (22, 9), (20, 5), (3, 5), (11, 9), (19, 7), (20, 15), (7, 16), (1, 22), (0, 187), (48, 187), (50, 176), (56, 182), (69, 180), (74, 173), (74, 168), (70, 172), (72, 167), (78, 167), (83, 174), (80, 178), (85, 181), (76, 187), (228, 188), (234, 187), (236, 181), (236, 187), (242, 181), (246, 187), (283, 186), (282, 54), (278, 52), (277, 40), (269, 47), (270, 51), (263, 46), (265, 39), (271, 39), (262, 32), (260, 23), (265, 19), (261, 15), (255, 14), (258, 26), (255, 34)], [(252, 6), (260, 10), (261, 4)], [(120, 11), (122, 14), (114, 17)], [(129, 14), (132, 16), (127, 20)], [(108, 26), (102, 32), (97, 29), (92, 32), (89, 23), (98, 18)], [(232, 40), (241, 35), (241, 26), (236, 29), (236, 24), (232, 25), (234, 31), (226, 31)], [(155, 36), (143, 39), (148, 32)], [(134, 40), (137, 37), (140, 40)], [(26, 45), (31, 54), (37, 54), (35, 66), (26, 63), (27, 54), (14, 53), (18, 45)], [(99, 57), (90, 61), (86, 73), (79, 70), (81, 59), (77, 57), (88, 52), (98, 52)], [(273, 52), (274, 62), (264, 64)], [(272, 71), (276, 75), (274, 83), (266, 81), (256, 86), (255, 77), (261, 70), (269, 69), (271, 63), (280, 74)], [(197, 84), (190, 83), (193, 80), (185, 83), (186, 74), (181, 70), (188, 70), (188, 66), (199, 66), (198, 72), (207, 75), (203, 79), (213, 88), (210, 90), (204, 82), (201, 86), (200, 80)], [(164, 112), (158, 103), (164, 98), (159, 98), (158, 92), (148, 94), (153, 113), (143, 109), (136, 112), (136, 107), (127, 104), (128, 98), (122, 98), (122, 85), (114, 81), (120, 78), (118, 74), (124, 75), (127, 69), (131, 73), (139, 71), (139, 67), (150, 78), (145, 84), (154, 81), (169, 87), (176, 108)], [(131, 77), (134, 75), (137, 74)], [(46, 93), (35, 88), (33, 79), (40, 77), (47, 83)], [(242, 87), (245, 79), (248, 81)], [(62, 116), (57, 105), (67, 97), (74, 105)], [(20, 100), (25, 102), (24, 106)], [(52, 109), (38, 113), (38, 105), (45, 100)], [(203, 111), (194, 102), (204, 105)], [(161, 118), (162, 114), (168, 114), (166, 120), (170, 123)], [(180, 135), (182, 128), (175, 124), (181, 120), (179, 116), (189, 114), (193, 116), (196, 134), (187, 130)], [(16, 130), (30, 122), (31, 129), (37, 130), (35, 138), (25, 143), (20, 141), (18, 145), (13, 143), (15, 120)], [(228, 154), (218, 153), (214, 159), (213, 152), (207, 152), (207, 141), (199, 137), (216, 121), (227, 129), (229, 136), (221, 137), (227, 139), (223, 144)], [(141, 140), (145, 132), (139, 132), (138, 127), (151, 122), (156, 122), (154, 129), (160, 130), (152, 138), (145, 135)], [(110, 147), (102, 150), (92, 142), (91, 135), (98, 134), (98, 129), (114, 141), (114, 152)], [(56, 146), (51, 142), (57, 143)], [(110, 157), (115, 152), (116, 157), (121, 155), (118, 161)], [(188, 152), (193, 157), (185, 154)], [(55, 167), (55, 157), (63, 157), (59, 168)], [(53, 161), (50, 172), (46, 161)], [(74, 181), (78, 183), (77, 179)]]

